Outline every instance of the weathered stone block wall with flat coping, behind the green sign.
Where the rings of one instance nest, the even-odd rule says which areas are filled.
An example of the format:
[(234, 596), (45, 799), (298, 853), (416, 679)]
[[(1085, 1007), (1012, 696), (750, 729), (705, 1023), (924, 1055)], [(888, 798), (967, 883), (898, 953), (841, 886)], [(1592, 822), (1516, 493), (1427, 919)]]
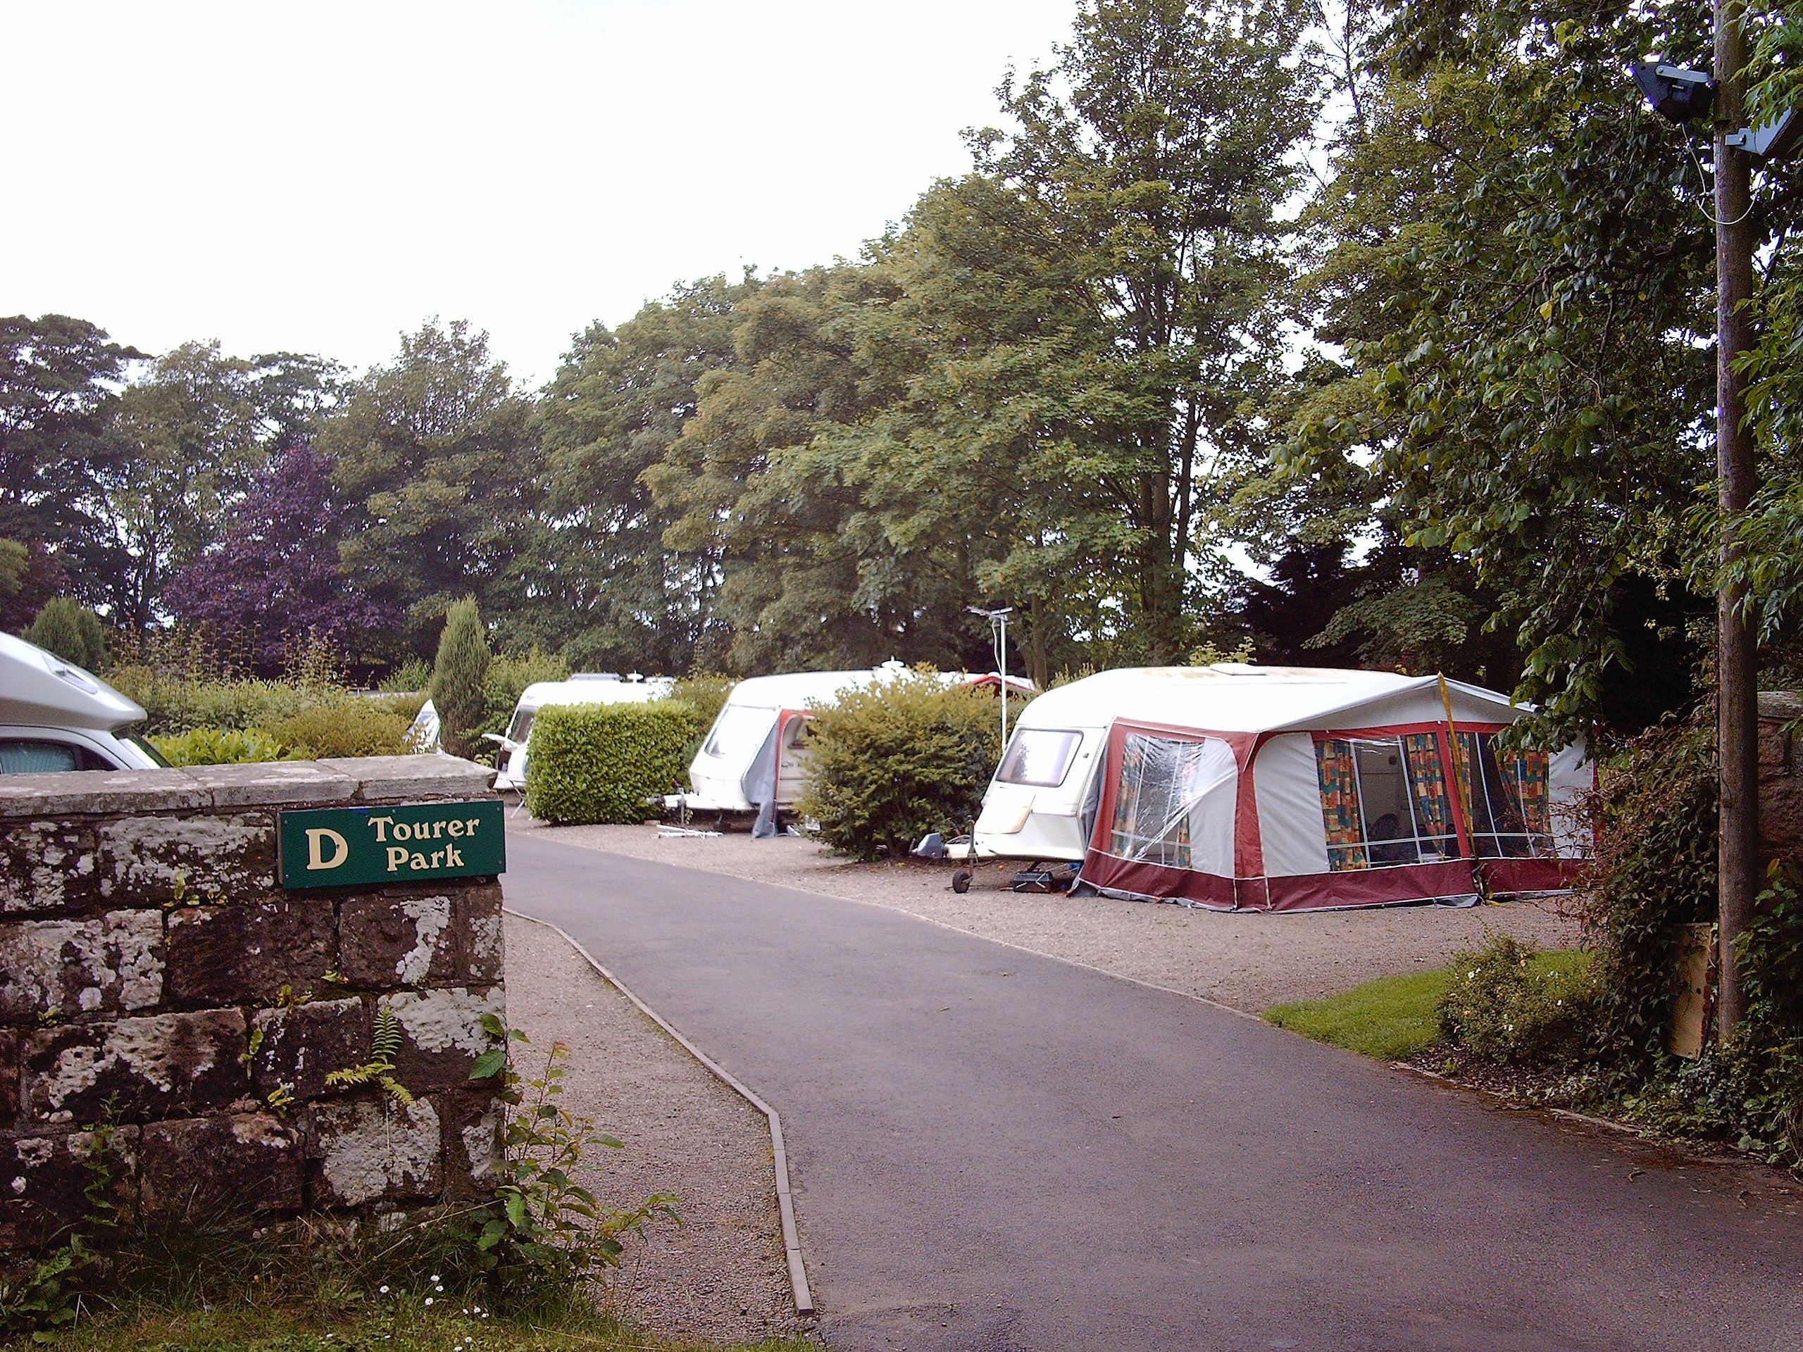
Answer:
[[(490, 777), (449, 755), (0, 777), (0, 1249), (88, 1210), (101, 1123), (114, 1201), (144, 1217), (480, 1192), (499, 882), (285, 892), (276, 813), (485, 799)], [(326, 1085), (384, 1008), (411, 1105)]]

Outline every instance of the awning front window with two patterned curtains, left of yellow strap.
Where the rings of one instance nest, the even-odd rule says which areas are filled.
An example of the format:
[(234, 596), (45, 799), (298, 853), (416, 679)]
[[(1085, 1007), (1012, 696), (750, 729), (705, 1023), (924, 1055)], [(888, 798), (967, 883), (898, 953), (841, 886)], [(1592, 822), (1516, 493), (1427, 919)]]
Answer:
[(1318, 737), (1322, 820), (1332, 869), (1457, 858), (1439, 737)]

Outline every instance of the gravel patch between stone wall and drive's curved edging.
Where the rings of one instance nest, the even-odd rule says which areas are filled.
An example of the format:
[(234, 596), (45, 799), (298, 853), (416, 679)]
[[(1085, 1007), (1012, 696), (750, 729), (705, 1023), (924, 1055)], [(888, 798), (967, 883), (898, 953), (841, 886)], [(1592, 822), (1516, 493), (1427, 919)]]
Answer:
[(682, 1226), (626, 1242), (608, 1302), (665, 1338), (755, 1343), (801, 1325), (783, 1258), (770, 1128), (555, 930), (507, 918), (507, 1013), (535, 1067), (566, 1042), (563, 1103), (624, 1148), (599, 1148), (586, 1183), (609, 1206), (676, 1193)]

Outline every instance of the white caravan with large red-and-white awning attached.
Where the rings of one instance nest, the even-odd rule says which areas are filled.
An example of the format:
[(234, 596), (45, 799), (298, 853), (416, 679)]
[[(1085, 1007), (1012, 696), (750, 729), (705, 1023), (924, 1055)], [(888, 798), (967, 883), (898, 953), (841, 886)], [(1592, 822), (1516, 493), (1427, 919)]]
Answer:
[(972, 853), (1082, 860), (1098, 891), (1222, 909), (1561, 891), (1592, 772), (1581, 743), (1498, 745), (1527, 712), (1439, 676), (1100, 672), (1024, 710)]

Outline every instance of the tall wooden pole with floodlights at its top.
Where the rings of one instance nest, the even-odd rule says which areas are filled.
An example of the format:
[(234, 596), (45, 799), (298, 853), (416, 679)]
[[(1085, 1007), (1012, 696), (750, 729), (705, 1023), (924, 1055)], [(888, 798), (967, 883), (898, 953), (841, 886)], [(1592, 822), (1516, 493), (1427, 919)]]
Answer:
[[(1745, 0), (1715, 0), (1715, 274), (1716, 274), (1716, 431), (1715, 454), (1722, 508), (1722, 562), (1738, 553), (1734, 521), (1754, 489), (1753, 438), (1734, 371), (1734, 359), (1753, 346), (1747, 301), (1753, 297), (1753, 166), (1727, 137), (1747, 124)], [(1720, 750), (1720, 995), (1722, 1037), (1734, 1031), (1747, 1008), (1734, 939), (1753, 918), (1760, 885), (1760, 696), (1758, 642), (1745, 606), (1745, 588), (1716, 593), (1716, 745)]]

